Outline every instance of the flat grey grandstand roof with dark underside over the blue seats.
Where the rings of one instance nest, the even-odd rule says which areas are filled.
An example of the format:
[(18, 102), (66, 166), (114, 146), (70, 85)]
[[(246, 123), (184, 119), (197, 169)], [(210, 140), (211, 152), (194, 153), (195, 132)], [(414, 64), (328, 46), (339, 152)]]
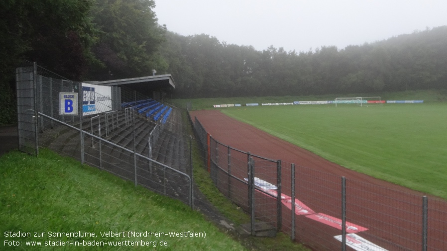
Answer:
[(149, 91), (160, 89), (175, 88), (174, 79), (170, 74), (155, 75), (132, 79), (109, 80), (101, 82), (91, 82), (91, 84), (100, 84), (106, 86), (125, 86), (127, 88), (136, 90), (142, 94)]

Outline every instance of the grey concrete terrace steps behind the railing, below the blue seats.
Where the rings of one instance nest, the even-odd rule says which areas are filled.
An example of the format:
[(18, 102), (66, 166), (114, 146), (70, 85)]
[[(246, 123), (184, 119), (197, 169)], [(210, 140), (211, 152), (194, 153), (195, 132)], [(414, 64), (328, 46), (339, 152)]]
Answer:
[[(166, 109), (166, 110), (169, 110)], [(118, 116), (114, 115), (114, 128), (110, 128), (109, 135), (106, 136), (104, 114), (101, 118), (101, 137), (111, 141), (112, 143), (125, 147), (129, 150), (133, 150), (133, 124), (125, 123), (124, 112), (118, 112)], [(161, 118), (161, 116), (160, 116)], [(112, 116), (109, 116), (109, 123), (111, 124)], [(92, 133), (90, 117), (82, 121), (83, 129), (89, 133)], [(177, 110), (171, 110), (168, 123), (164, 125), (158, 142), (154, 144), (153, 158), (160, 163), (167, 166), (174, 167), (185, 171), (189, 163), (185, 164), (185, 141), (183, 139), (183, 132), (181, 126), (181, 114)], [(93, 134), (98, 135), (98, 119), (93, 120)], [(179, 124), (179, 125), (177, 125)], [(74, 127), (79, 127), (79, 122), (72, 123)], [(136, 152), (144, 156), (149, 156), (148, 137), (150, 131), (154, 128), (155, 123), (152, 119), (143, 116), (137, 116), (135, 118), (135, 133), (136, 133)], [(54, 129), (47, 130), (41, 134), (40, 145), (54, 149), (55, 151), (67, 156), (72, 156), (80, 159), (81, 144), (80, 133), (77, 130), (70, 129), (64, 125), (60, 125)], [(93, 146), (92, 146), (93, 145)], [(84, 151), (85, 160), (87, 163), (93, 166), (108, 169), (112, 173), (127, 178), (133, 179), (133, 154), (128, 153), (118, 147), (111, 144), (103, 143), (101, 145), (102, 155), (99, 152), (99, 143), (97, 139), (92, 137), (84, 137)], [(137, 158), (138, 163), (142, 163), (143, 169), (147, 169), (149, 165), (147, 160)], [(146, 167), (147, 166), (147, 167)], [(166, 175), (164, 172), (155, 172), (154, 175)], [(148, 174), (149, 175), (149, 174)], [(157, 182), (160, 183), (162, 178)], [(149, 181), (147, 181), (149, 182)], [(151, 181), (152, 182), (152, 181)], [(155, 182), (155, 181), (154, 181)]]

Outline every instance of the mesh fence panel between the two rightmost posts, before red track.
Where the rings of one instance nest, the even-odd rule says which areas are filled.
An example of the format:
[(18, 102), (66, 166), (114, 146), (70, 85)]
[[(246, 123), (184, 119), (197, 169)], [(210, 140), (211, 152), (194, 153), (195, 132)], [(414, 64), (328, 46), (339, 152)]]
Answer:
[(421, 249), (421, 196), (348, 179), (346, 210), (348, 221), (368, 229), (358, 235), (376, 245), (386, 250)]

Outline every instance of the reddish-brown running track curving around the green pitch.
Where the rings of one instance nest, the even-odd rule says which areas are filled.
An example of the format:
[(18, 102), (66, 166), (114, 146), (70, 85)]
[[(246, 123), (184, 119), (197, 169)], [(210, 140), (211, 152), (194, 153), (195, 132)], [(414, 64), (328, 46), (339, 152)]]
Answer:
[[(289, 196), (287, 188), (291, 182), (287, 165), (296, 164), (297, 199), (322, 215), (341, 218), (340, 183), (341, 176), (346, 177), (346, 220), (368, 229), (356, 233), (358, 236), (381, 248), (374, 249), (377, 251), (422, 250), (424, 194), (341, 167), (218, 110), (191, 111), (190, 115), (193, 121), (197, 117), (206, 131), (224, 145), (281, 160), (282, 192)], [(244, 178), (246, 167), (239, 168), (239, 178)], [(270, 170), (272, 175), (275, 172), (276, 169)], [(447, 250), (446, 209), (444, 200), (429, 197), (429, 251)], [(282, 211), (282, 229), (290, 233), (291, 218), (287, 210)], [(341, 250), (340, 242), (335, 239), (341, 231), (312, 218), (316, 217), (296, 216), (296, 239), (314, 250)], [(348, 250), (355, 249), (348, 247)]]

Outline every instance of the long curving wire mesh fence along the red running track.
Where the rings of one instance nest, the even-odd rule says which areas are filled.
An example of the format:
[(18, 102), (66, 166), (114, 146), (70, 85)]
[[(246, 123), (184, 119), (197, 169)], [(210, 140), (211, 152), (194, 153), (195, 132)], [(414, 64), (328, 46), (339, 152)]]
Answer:
[(264, 224), (318, 251), (447, 250), (447, 203), (280, 160), (214, 139), (191, 118), (219, 190)]

